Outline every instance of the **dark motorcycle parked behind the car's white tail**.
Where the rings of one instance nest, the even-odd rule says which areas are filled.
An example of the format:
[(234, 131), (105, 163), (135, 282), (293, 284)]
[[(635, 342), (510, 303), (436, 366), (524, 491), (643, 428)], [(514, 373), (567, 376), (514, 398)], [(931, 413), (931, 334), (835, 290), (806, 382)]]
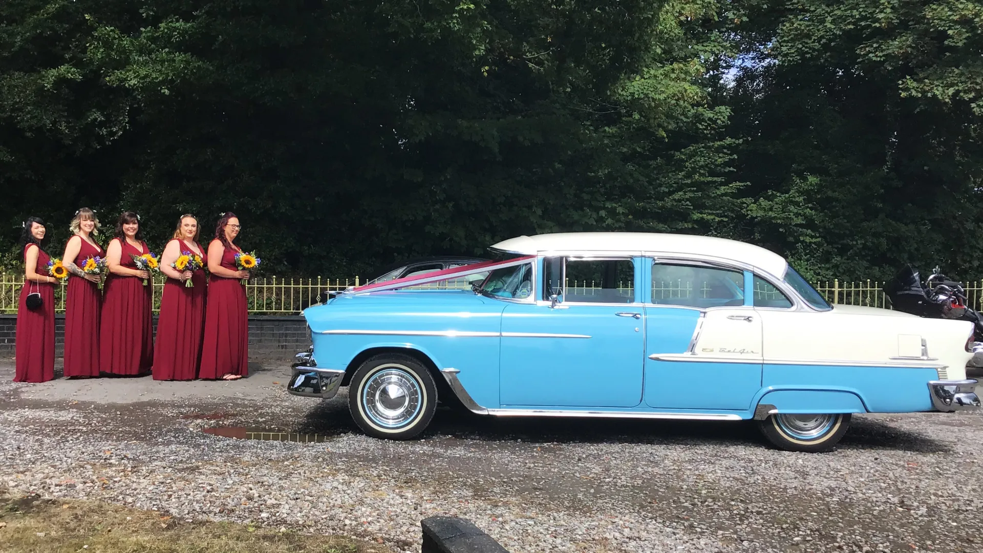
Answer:
[(955, 319), (972, 323), (974, 331), (971, 350), (976, 355), (971, 364), (983, 366), (983, 318), (978, 311), (969, 307), (962, 282), (945, 276), (938, 267), (922, 282), (918, 271), (908, 265), (886, 283), (883, 289), (897, 311), (931, 319)]

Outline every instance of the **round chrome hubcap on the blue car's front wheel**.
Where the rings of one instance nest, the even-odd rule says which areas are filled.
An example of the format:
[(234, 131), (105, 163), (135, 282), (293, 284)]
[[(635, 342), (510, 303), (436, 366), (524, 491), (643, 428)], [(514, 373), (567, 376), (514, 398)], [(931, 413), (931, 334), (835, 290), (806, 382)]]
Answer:
[(420, 412), (420, 385), (407, 370), (397, 367), (400, 365), (376, 372), (363, 389), (366, 414), (385, 428), (403, 426)]

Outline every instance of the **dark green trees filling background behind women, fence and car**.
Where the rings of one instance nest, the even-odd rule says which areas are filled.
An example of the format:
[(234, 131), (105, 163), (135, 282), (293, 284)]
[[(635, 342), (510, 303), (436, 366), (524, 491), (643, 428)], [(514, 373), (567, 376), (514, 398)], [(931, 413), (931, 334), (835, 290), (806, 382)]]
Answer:
[(976, 276), (981, 29), (968, 0), (7, 0), (0, 251), (88, 206), (155, 248), (235, 212), (279, 275), (626, 229)]

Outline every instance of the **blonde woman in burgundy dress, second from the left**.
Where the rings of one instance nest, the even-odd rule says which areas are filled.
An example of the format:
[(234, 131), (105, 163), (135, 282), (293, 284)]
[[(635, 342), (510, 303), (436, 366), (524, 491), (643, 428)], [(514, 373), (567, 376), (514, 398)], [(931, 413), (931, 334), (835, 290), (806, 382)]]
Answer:
[(65, 377), (99, 376), (99, 315), (102, 309), (100, 275), (87, 275), (89, 259), (106, 257), (92, 236), (99, 233), (95, 213), (83, 208), (75, 213), (69, 229), (75, 234), (65, 246), (62, 265), (72, 274), (65, 302)]

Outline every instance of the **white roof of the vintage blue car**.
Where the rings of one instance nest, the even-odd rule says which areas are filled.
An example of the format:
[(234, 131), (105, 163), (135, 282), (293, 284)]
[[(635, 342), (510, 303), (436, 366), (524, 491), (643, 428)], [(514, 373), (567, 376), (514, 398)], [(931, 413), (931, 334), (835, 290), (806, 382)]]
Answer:
[(551, 252), (692, 254), (745, 263), (779, 277), (784, 276), (788, 265), (779, 254), (747, 242), (712, 236), (658, 232), (536, 234), (502, 240), (494, 244), (491, 249), (518, 255), (549, 255)]

